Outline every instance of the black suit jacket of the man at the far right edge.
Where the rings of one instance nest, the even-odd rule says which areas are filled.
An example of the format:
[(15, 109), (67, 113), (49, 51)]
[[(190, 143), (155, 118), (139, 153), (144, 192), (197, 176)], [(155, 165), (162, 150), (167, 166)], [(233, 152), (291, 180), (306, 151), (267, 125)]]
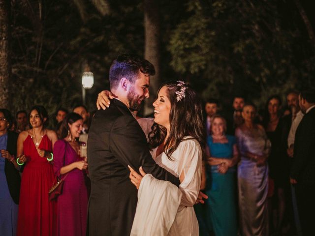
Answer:
[(315, 184), (315, 108), (305, 114), (296, 129), (290, 176), (298, 184)]

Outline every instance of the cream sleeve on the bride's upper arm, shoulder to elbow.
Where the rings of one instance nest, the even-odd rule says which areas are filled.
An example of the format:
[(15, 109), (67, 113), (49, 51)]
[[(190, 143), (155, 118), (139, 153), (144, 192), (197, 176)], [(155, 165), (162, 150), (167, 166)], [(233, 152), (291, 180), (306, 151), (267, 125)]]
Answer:
[(184, 172), (184, 181), (179, 185), (183, 193), (181, 206), (192, 207), (198, 197), (201, 183), (202, 150), (194, 139), (184, 140), (178, 146), (178, 173)]

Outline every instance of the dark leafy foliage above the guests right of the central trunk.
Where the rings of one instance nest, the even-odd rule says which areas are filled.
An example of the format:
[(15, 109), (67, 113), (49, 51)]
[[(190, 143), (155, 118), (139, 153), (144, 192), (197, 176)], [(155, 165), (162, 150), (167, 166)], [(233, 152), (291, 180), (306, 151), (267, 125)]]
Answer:
[(314, 86), (312, 47), (297, 25), (300, 16), (292, 11), (287, 22), (281, 9), (288, 3), (278, 3), (189, 1), (191, 16), (171, 34), (171, 66), (192, 84), (203, 80), (204, 98), (229, 104), (226, 96), (233, 93), (245, 93), (261, 106), (271, 94)]

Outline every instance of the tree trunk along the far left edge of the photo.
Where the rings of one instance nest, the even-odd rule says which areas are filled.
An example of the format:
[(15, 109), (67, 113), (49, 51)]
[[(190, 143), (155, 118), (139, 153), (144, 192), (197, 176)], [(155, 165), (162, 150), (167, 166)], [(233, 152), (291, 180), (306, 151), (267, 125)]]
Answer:
[(9, 12), (10, 1), (0, 0), (0, 108), (9, 108)]

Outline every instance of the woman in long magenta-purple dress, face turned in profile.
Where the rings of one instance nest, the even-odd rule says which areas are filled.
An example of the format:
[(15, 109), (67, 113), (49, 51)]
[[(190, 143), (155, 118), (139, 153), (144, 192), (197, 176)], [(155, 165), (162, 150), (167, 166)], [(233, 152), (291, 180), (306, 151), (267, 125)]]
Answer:
[(63, 192), (58, 197), (58, 236), (83, 236), (86, 234), (88, 192), (84, 171), (86, 158), (80, 157), (76, 141), (82, 131), (83, 118), (69, 113), (63, 120), (61, 140), (54, 146), (54, 172), (64, 178)]

